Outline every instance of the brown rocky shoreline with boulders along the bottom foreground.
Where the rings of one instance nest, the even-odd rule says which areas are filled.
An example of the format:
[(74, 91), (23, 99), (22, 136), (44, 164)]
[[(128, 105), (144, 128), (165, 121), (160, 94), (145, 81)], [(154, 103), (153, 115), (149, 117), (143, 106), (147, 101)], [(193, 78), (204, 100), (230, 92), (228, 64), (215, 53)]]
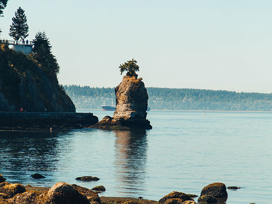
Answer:
[[(37, 174), (40, 175), (40, 174)], [(99, 180), (93, 176), (78, 177), (76, 180)], [(228, 187), (239, 189), (240, 187)], [(53, 187), (32, 187), (21, 184), (10, 184), (0, 174), (0, 204), (215, 204), (225, 203), (228, 197), (223, 183), (212, 183), (204, 187), (200, 196), (173, 191), (159, 201), (146, 200), (142, 197), (123, 198), (99, 196), (99, 191), (105, 187), (97, 186), (92, 189), (64, 182), (56, 183)], [(198, 197), (197, 203), (194, 199)], [(251, 203), (253, 204), (253, 203)]]

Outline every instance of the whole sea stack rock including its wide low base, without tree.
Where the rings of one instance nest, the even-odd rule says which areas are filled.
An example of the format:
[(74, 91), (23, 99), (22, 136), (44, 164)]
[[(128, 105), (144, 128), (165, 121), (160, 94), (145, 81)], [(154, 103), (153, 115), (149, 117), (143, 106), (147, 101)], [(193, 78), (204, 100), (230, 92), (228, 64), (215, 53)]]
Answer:
[(116, 111), (92, 126), (96, 129), (152, 129), (147, 115), (148, 94), (144, 82), (137, 76), (124, 76), (115, 88)]

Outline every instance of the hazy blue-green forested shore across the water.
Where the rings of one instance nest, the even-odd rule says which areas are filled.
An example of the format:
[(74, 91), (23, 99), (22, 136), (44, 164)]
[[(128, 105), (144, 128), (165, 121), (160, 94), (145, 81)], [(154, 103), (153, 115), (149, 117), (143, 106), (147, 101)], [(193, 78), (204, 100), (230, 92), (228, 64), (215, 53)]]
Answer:
[[(115, 105), (114, 88), (64, 85), (76, 108)], [(272, 93), (147, 87), (151, 110), (272, 111)]]

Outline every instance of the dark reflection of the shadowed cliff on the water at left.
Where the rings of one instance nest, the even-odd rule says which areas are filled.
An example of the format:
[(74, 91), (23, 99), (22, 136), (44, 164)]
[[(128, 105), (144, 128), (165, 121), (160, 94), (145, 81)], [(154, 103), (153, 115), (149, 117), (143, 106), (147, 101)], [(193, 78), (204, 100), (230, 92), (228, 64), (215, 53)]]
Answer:
[(25, 183), (36, 172), (55, 170), (57, 137), (50, 132), (1, 132), (0, 172), (9, 182)]

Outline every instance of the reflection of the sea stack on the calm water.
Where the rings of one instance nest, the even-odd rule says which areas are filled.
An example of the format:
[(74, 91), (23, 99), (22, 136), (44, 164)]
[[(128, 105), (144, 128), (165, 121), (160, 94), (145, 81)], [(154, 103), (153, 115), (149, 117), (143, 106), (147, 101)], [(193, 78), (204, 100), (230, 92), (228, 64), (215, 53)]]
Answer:
[[(147, 160), (145, 130), (115, 131), (116, 179), (120, 193), (141, 195), (144, 188)], [(123, 190), (123, 191), (122, 191)]]

